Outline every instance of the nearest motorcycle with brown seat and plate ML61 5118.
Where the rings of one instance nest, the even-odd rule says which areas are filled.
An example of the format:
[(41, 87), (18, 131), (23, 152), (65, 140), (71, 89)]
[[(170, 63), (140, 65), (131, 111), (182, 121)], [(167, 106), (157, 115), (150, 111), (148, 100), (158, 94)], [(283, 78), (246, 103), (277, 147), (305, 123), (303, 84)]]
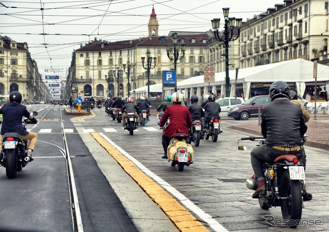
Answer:
[[(265, 143), (262, 137), (240, 138), (237, 141), (239, 150), (246, 150), (245, 146), (239, 146), (239, 141), (251, 140), (258, 141), (259, 145)], [(266, 195), (260, 196), (259, 204), (262, 209), (269, 209), (272, 206), (280, 206), (282, 217), (288, 221), (289, 227), (296, 227), (301, 217), (303, 200), (312, 200), (313, 196), (309, 193), (302, 195), (302, 181), (305, 181), (304, 166), (293, 154), (286, 154), (277, 157), (273, 163), (264, 164)], [(254, 175), (246, 180), (246, 186), (249, 189), (257, 189), (257, 180)]]

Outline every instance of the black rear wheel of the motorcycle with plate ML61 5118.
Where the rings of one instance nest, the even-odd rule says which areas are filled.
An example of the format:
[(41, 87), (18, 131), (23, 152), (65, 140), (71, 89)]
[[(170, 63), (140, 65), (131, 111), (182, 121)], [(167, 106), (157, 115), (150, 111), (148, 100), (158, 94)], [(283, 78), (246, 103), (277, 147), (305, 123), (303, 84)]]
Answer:
[[(281, 212), (284, 220), (296, 221), (302, 217), (302, 189), (299, 180), (290, 180), (288, 170), (282, 173), (280, 184)], [(295, 228), (295, 223), (289, 227)]]

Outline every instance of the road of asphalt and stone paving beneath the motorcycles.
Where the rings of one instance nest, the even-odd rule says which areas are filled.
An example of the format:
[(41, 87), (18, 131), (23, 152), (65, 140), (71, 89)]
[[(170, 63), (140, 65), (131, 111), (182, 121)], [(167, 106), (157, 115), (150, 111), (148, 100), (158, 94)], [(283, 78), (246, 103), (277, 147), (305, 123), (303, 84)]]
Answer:
[[(63, 138), (61, 133), (57, 133), (60, 128), (56, 121), (61, 107), (28, 106), (29, 110), (40, 110), (41, 107), (46, 109), (40, 112), (51, 109), (53, 114), (49, 114), (52, 115), (49, 121), (40, 122), (35, 130), (40, 140), (34, 152), (35, 160), (14, 180), (8, 180), (4, 168), (0, 169), (1, 195), (11, 195), (0, 200), (0, 212), (13, 211), (7, 213), (2, 222), (16, 225), (13, 228), (22, 228), (20, 226), (26, 226), (26, 223), (14, 224), (20, 221), (17, 218), (31, 215), (32, 223), (24, 228), (70, 231), (65, 162), (60, 152), (41, 142), (48, 140), (63, 146), (60, 145)], [(314, 199), (304, 202), (302, 219), (308, 220), (308, 225), (289, 229), (267, 223), (266, 215), (282, 219), (280, 208), (261, 209), (258, 201), (251, 199), (253, 191), (245, 187), (244, 182), (252, 173), (250, 150), (255, 144), (248, 141), (245, 142), (247, 151), (237, 150), (237, 139), (249, 134), (227, 128), (241, 122), (223, 119), (223, 133), (218, 136), (218, 141), (201, 141), (199, 147), (194, 147), (194, 163), (178, 172), (177, 167), (171, 167), (161, 159), (162, 133), (155, 117), (130, 136), (121, 123), (112, 121), (105, 114), (104, 108), (94, 109), (93, 113), (95, 116), (79, 122), (72, 117), (64, 117), (65, 128), (73, 129), (73, 132), (67, 133), (67, 138), (85, 231), (177, 231), (178, 227), (198, 231), (329, 230), (329, 184), (326, 175), (329, 162), (325, 150), (305, 148), (307, 190), (312, 192)], [(248, 123), (257, 125), (258, 121), (248, 120)], [(51, 129), (51, 132), (38, 131), (43, 128)], [(128, 165), (126, 160), (130, 162)], [(147, 178), (151, 180), (145, 184)], [(153, 187), (151, 182), (160, 188)], [(147, 186), (152, 186), (151, 190)], [(164, 189), (184, 209), (175, 209), (178, 207), (176, 203), (158, 198), (155, 189), (159, 192)], [(16, 192), (20, 192), (21, 200), (12, 203)], [(165, 194), (161, 192), (161, 195)], [(22, 196), (32, 197), (33, 203), (23, 201)], [(115, 225), (119, 217), (113, 218), (114, 215), (122, 217), (124, 224), (119, 222)], [(312, 225), (315, 220), (320, 220), (321, 225)]]

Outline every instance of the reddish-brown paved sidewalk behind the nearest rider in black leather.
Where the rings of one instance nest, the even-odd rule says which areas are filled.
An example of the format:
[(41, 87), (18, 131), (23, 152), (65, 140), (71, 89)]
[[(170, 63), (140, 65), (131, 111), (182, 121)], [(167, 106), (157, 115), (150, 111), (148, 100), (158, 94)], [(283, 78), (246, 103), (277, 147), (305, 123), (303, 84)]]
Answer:
[[(316, 147), (329, 150), (329, 114), (317, 114), (317, 119), (314, 119), (314, 114), (310, 114), (310, 119), (307, 125), (307, 142), (306, 146)], [(258, 124), (239, 124), (228, 126), (229, 128), (244, 131), (251, 134), (261, 136), (261, 126)]]

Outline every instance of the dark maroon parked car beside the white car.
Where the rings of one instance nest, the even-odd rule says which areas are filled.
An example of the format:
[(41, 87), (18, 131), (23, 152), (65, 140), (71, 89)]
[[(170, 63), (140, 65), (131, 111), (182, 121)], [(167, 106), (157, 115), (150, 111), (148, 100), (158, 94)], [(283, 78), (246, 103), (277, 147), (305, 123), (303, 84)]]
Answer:
[(247, 120), (250, 117), (258, 117), (258, 108), (261, 108), (262, 112), (263, 106), (270, 102), (269, 95), (253, 96), (241, 105), (231, 108), (227, 115), (235, 120)]

